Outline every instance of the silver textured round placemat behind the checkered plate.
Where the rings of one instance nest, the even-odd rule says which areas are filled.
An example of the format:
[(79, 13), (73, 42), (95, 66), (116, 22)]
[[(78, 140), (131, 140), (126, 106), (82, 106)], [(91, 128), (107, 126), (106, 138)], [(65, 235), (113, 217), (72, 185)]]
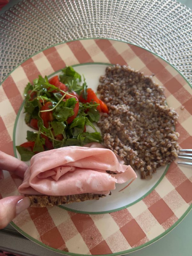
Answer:
[(49, 46), (112, 38), (162, 56), (192, 81), (192, 12), (171, 0), (24, 0), (0, 16), (0, 82)]

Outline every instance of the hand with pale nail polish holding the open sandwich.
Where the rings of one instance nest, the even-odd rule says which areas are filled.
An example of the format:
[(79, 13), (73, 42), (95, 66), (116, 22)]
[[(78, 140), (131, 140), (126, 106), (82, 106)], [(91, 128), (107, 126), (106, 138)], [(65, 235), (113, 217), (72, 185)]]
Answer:
[[(0, 179), (3, 171), (12, 172), (21, 178), (28, 165), (21, 160), (0, 151)], [(5, 228), (20, 212), (30, 206), (30, 199), (24, 196), (8, 196), (0, 200), (0, 229)]]

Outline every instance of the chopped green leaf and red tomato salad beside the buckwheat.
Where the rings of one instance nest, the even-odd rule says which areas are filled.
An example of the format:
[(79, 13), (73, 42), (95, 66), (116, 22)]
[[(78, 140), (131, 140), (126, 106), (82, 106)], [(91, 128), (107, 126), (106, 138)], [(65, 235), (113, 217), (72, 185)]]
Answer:
[(108, 108), (72, 67), (51, 79), (39, 76), (27, 84), (24, 95), (25, 122), (36, 131), (28, 130), (27, 141), (16, 146), (22, 161), (45, 150), (102, 141), (93, 123)]

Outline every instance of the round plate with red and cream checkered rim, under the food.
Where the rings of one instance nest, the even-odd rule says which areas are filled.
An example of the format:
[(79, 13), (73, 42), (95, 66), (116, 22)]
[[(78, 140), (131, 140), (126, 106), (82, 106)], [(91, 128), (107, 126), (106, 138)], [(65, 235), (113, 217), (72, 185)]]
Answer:
[[(85, 78), (92, 72), (88, 86), (92, 86), (90, 79), (94, 79), (93, 89), (96, 89), (99, 75), (102, 75), (99, 72), (104, 74), (107, 63), (129, 65), (145, 75), (155, 75), (154, 81), (165, 88), (168, 106), (179, 114), (176, 125), (176, 131), (180, 133), (179, 145), (191, 148), (192, 90), (179, 71), (139, 46), (116, 40), (84, 39), (37, 53), (4, 80), (0, 86), (0, 150), (13, 156), (15, 152), (17, 156), (15, 144), (26, 136), (25, 131), (18, 132), (18, 129), (22, 129), (20, 106), (28, 81), (76, 65), (78, 70), (75, 69), (82, 71)], [(181, 106), (184, 106), (183, 110)], [(153, 243), (187, 215), (192, 208), (192, 172), (189, 168), (178, 166), (175, 161), (154, 175), (154, 181), (140, 180), (139, 177), (139, 183), (134, 181), (128, 190), (124, 190), (124, 195), (117, 193), (121, 202), (119, 207), (110, 202), (108, 208), (102, 209), (102, 200), (107, 200), (104, 198), (95, 202), (98, 211), (94, 202), (91, 205), (77, 203), (68, 208), (29, 208), (17, 216), (12, 225), (34, 242), (63, 254), (122, 255)], [(20, 182), (18, 177), (6, 173), (5, 179), (0, 180), (0, 198), (18, 194)], [(138, 193), (134, 186), (138, 186)], [(122, 200), (126, 197), (128, 201)]]

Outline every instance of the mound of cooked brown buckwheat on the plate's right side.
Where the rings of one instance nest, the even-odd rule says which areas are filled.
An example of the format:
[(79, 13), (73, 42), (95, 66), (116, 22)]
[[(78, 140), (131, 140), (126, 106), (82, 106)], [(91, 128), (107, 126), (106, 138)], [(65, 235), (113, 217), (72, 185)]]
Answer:
[(98, 122), (104, 144), (140, 170), (142, 179), (174, 161), (179, 151), (178, 114), (166, 105), (163, 91), (150, 77), (125, 66), (107, 67), (100, 77), (98, 93), (109, 108)]

